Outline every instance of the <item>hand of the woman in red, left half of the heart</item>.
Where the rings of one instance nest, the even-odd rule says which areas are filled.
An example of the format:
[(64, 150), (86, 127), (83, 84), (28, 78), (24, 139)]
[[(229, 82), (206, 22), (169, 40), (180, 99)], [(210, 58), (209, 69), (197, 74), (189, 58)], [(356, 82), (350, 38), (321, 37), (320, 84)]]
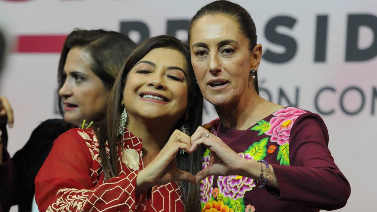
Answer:
[(180, 149), (190, 152), (191, 138), (177, 129), (156, 158), (139, 171), (136, 178), (136, 194), (172, 181), (188, 181), (195, 184), (195, 177), (192, 174), (177, 168), (175, 158)]

